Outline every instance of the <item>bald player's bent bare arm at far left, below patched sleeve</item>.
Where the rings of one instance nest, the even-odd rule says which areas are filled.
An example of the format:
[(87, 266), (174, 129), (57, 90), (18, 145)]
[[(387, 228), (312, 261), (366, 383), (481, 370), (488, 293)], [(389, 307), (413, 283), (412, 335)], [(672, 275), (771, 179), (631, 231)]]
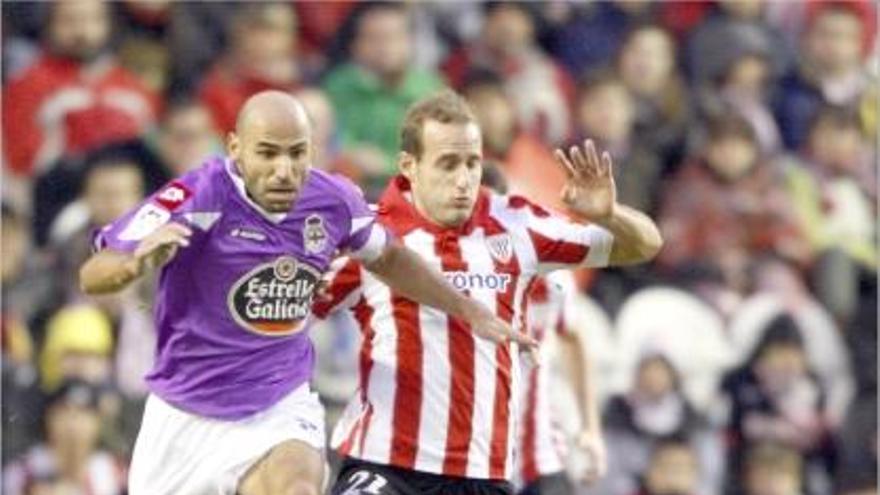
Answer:
[(133, 253), (99, 251), (80, 269), (80, 287), (90, 295), (118, 292), (148, 270), (171, 261), (179, 248), (189, 245), (191, 235), (189, 228), (169, 223), (145, 237)]

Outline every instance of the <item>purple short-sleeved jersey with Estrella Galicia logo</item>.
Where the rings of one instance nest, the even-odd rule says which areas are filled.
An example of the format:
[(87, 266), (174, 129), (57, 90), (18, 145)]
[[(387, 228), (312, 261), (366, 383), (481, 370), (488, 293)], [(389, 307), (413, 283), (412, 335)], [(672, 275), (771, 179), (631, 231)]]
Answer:
[(371, 259), (385, 244), (348, 180), (313, 169), (291, 210), (272, 214), (230, 160), (213, 158), (101, 229), (96, 247), (132, 252), (172, 221), (193, 235), (160, 274), (146, 379), (165, 401), (221, 419), (262, 411), (311, 378), (319, 279), (338, 251)]

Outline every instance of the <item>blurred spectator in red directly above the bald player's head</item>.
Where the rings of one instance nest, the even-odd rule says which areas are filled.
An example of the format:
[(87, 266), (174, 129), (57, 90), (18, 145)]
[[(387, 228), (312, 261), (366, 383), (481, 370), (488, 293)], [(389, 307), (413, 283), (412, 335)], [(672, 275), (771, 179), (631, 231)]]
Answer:
[(229, 51), (214, 64), (199, 88), (199, 98), (226, 135), (250, 96), (269, 89), (291, 91), (302, 84), (297, 65), (297, 19), (282, 3), (250, 3), (232, 18)]

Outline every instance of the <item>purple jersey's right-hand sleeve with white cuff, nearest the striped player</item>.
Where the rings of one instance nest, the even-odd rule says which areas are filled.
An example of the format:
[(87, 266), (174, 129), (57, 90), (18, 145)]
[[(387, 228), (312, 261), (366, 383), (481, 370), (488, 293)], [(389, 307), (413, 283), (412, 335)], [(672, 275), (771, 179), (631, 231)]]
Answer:
[(339, 248), (352, 258), (369, 263), (382, 254), (388, 233), (376, 221), (376, 213), (364, 200), (360, 188), (343, 179), (343, 200), (351, 215), (351, 226)]

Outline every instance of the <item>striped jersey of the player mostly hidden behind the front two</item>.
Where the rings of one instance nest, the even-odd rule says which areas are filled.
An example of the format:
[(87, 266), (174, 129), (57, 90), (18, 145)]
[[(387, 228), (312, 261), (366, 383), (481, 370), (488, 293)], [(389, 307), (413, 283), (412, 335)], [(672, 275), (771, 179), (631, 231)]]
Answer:
[(575, 290), (571, 272), (557, 271), (535, 279), (526, 294), (526, 322), (531, 335), (539, 342), (541, 364), (524, 363), (523, 366), (525, 386), (522, 388), (522, 423), (516, 459), (517, 474), (524, 484), (565, 469), (562, 462), (565, 452), (563, 432), (554, 421), (555, 411), (550, 402), (552, 373), (548, 350), (555, 335), (568, 332), (565, 302)]

